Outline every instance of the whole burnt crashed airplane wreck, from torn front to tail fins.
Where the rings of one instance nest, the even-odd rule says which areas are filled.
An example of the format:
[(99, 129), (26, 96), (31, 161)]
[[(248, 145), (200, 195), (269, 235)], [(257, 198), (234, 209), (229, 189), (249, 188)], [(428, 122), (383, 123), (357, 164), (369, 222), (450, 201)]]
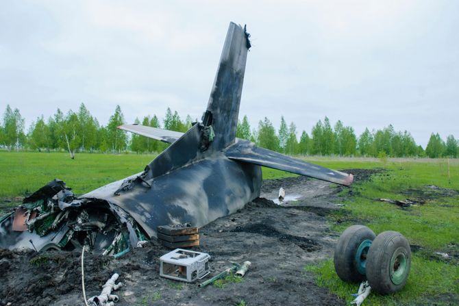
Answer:
[(202, 121), (186, 133), (119, 128), (171, 144), (145, 170), (75, 196), (55, 179), (0, 218), (0, 248), (82, 250), (119, 257), (160, 225), (201, 227), (260, 196), (261, 166), (349, 186), (353, 176), (236, 138), (247, 51), (245, 27), (229, 24)]

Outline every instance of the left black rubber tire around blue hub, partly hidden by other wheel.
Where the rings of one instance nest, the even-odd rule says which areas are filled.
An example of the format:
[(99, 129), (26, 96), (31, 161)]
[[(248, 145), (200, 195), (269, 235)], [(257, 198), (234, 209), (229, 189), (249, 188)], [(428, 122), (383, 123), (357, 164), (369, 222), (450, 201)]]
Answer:
[[(364, 281), (365, 271), (359, 272), (356, 253), (362, 242), (375, 239), (375, 233), (364, 225), (352, 225), (340, 236), (333, 256), (335, 271), (340, 279), (352, 283)], [(360, 269), (362, 270), (362, 269)]]

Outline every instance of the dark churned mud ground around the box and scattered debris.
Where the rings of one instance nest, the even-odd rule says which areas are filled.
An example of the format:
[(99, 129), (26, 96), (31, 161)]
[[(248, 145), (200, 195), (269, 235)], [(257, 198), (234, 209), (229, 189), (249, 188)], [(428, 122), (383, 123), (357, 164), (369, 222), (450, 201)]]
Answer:
[[(373, 170), (356, 170), (369, 179)], [(364, 174), (368, 174), (365, 177)], [(277, 199), (279, 188), (286, 201)], [(323, 181), (290, 177), (264, 181), (261, 198), (199, 230), (209, 253), (211, 276), (249, 260), (252, 266), (240, 283), (197, 288), (159, 276), (159, 257), (170, 250), (154, 243), (120, 259), (85, 255), (87, 297), (98, 295), (111, 275), (123, 287), (116, 305), (344, 305), (327, 289), (313, 283), (306, 264), (332, 256), (338, 234), (325, 217), (339, 209), (340, 188)], [(83, 305), (80, 253), (8, 251), (0, 249), (0, 305)], [(210, 278), (210, 277), (208, 277)], [(206, 279), (208, 279), (206, 278)], [(221, 288), (223, 287), (223, 288)]]

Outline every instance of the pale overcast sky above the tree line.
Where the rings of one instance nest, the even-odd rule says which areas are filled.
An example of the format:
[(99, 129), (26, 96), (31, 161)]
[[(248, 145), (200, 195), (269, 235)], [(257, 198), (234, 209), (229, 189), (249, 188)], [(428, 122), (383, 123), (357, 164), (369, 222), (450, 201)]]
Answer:
[(205, 110), (229, 21), (247, 24), (240, 118), (459, 138), (459, 1), (1, 1), (0, 112), (85, 103), (105, 125)]

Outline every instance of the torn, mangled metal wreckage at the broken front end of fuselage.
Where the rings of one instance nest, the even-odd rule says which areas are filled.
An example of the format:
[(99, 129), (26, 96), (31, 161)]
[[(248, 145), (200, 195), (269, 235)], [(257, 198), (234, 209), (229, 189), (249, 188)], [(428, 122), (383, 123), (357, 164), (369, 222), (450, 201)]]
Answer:
[[(9, 230), (10, 229), (10, 230)], [(0, 242), (35, 251), (81, 250), (119, 257), (147, 236), (123, 209), (101, 199), (78, 199), (55, 179), (1, 220)]]

